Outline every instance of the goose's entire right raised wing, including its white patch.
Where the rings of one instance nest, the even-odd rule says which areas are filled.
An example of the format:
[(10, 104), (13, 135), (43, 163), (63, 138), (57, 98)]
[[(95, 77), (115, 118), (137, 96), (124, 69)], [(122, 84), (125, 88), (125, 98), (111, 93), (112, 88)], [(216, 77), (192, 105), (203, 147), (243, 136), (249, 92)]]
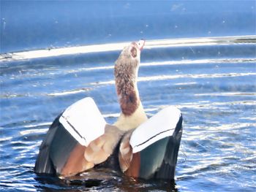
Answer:
[(121, 170), (132, 177), (173, 179), (181, 133), (178, 109), (167, 107), (158, 112), (127, 136), (129, 139), (121, 140)]

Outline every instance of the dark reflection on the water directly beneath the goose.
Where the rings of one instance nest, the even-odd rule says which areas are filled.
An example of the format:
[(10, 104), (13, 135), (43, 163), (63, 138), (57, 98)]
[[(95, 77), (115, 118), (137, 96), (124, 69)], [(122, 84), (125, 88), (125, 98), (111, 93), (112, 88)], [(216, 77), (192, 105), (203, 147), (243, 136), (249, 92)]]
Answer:
[[(54, 188), (69, 191), (178, 191), (176, 183), (163, 180), (138, 180), (116, 174), (108, 169), (91, 170), (80, 176), (59, 180), (56, 177), (37, 176), (37, 188), (44, 191)], [(48, 185), (45, 185), (48, 183)], [(58, 188), (56, 188), (56, 185)]]

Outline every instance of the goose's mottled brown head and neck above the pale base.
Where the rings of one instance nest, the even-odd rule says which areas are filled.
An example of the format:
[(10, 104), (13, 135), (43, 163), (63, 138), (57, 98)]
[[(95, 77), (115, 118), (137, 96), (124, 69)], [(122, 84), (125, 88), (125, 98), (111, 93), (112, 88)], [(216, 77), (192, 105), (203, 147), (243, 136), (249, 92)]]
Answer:
[(125, 116), (132, 115), (138, 109), (140, 98), (137, 88), (140, 50), (129, 46), (122, 51), (116, 60), (115, 80), (121, 112)]

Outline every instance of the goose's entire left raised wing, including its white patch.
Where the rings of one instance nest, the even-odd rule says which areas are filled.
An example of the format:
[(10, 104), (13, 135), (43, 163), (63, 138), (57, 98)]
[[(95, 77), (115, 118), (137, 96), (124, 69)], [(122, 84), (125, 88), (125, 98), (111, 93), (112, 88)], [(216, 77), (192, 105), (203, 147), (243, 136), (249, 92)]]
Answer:
[(90, 169), (105, 161), (116, 147), (121, 137), (116, 129), (105, 122), (91, 98), (72, 104), (50, 127), (35, 172), (67, 177)]

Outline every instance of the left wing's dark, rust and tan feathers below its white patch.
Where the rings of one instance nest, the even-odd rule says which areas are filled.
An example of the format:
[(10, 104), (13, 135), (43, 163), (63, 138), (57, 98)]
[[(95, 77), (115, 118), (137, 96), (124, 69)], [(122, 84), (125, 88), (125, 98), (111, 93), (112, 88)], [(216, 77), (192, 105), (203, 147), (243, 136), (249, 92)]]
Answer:
[(113, 153), (122, 132), (116, 126), (105, 126), (105, 134), (86, 147), (72, 137), (56, 119), (39, 148), (34, 172), (69, 177), (101, 164)]

